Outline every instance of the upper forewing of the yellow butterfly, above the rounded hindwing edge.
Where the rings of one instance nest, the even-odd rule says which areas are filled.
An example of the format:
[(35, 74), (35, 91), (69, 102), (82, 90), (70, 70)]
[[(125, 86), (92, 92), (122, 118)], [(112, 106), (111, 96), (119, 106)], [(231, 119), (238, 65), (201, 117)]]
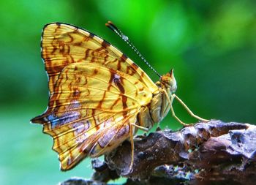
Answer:
[(151, 91), (158, 88), (140, 67), (104, 39), (64, 23), (50, 23), (42, 32), (42, 58), (49, 77), (50, 95), (62, 69), (68, 64), (88, 62), (134, 76)]

